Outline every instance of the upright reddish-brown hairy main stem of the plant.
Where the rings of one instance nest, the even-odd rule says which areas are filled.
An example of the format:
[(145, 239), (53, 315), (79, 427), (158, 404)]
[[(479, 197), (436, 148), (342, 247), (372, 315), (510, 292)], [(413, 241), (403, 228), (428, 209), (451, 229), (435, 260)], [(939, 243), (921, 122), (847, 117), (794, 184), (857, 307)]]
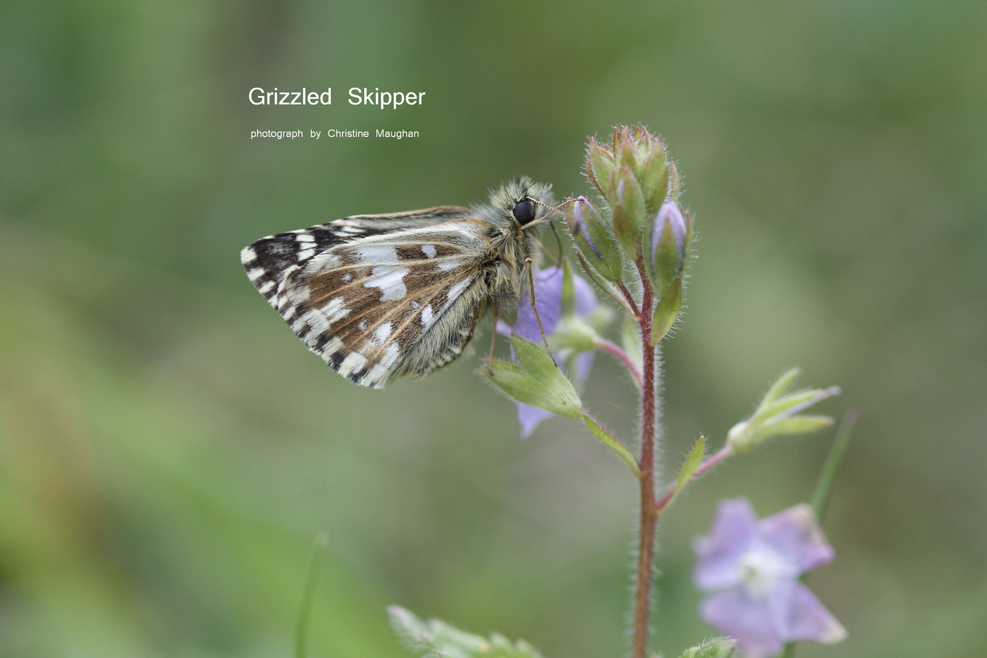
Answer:
[[(651, 573), (654, 563), (654, 525), (658, 515), (654, 505), (654, 430), (655, 397), (654, 378), (656, 367), (654, 347), (651, 341), (651, 309), (654, 291), (645, 274), (644, 260), (639, 256), (636, 264), (641, 276), (644, 293), (641, 301), (642, 354), (644, 355), (644, 386), (641, 388), (641, 535), (638, 543), (638, 580), (634, 596), (634, 626), (632, 629), (631, 658), (646, 658), (647, 635), (651, 607)], [(625, 288), (626, 291), (626, 288)]]

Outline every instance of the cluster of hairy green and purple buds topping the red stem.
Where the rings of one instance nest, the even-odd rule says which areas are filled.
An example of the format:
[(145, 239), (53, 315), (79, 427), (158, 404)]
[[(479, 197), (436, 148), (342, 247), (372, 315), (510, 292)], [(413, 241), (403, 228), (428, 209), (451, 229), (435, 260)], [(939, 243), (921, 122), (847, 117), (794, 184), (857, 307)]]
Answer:
[(678, 170), (643, 126), (614, 128), (610, 143), (590, 138), (586, 155), (586, 174), (600, 198), (594, 205), (579, 196), (567, 206), (579, 261), (608, 290), (621, 282), (628, 262), (637, 264), (661, 300), (656, 342), (678, 316), (692, 243), (692, 221), (678, 205)]

